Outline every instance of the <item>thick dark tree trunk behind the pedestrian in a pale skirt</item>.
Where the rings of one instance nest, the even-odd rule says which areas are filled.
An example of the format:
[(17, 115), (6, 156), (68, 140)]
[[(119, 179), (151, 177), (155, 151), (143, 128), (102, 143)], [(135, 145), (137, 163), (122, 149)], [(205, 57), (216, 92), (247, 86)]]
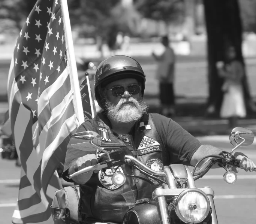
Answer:
[(242, 54), (242, 25), (238, 0), (204, 0), (208, 48), (208, 105), (219, 112), (223, 93), (223, 79), (217, 74), (216, 62), (225, 61), (228, 46), (234, 46), (244, 66), (243, 89), (246, 102), (251, 100)]

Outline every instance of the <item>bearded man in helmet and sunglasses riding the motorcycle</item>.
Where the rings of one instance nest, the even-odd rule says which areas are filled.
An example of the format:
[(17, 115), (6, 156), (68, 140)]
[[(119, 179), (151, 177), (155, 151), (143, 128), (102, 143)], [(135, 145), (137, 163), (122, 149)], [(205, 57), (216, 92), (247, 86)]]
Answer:
[[(143, 102), (145, 77), (133, 58), (116, 55), (102, 61), (96, 70), (94, 92), (103, 111), (81, 124), (76, 132), (96, 131), (102, 138), (100, 147), (110, 151), (111, 147), (119, 147), (157, 171), (174, 163), (195, 166), (206, 155), (223, 154), (222, 149), (202, 145), (172, 119), (147, 113)], [(234, 156), (243, 162), (246, 171), (256, 168), (244, 154)], [(151, 199), (159, 184), (128, 164), (115, 167), (126, 176), (123, 186), (112, 183), (111, 170), (69, 178), (77, 170), (96, 165), (100, 158), (99, 152), (81, 151), (69, 144), (62, 177), (80, 186), (81, 223), (122, 223), (136, 200)]]

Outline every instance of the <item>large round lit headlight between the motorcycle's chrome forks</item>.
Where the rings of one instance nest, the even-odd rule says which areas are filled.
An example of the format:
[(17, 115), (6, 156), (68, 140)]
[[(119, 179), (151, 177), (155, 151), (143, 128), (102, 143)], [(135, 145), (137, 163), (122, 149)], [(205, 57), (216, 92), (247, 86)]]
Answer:
[(197, 188), (184, 190), (175, 201), (175, 212), (185, 223), (200, 223), (209, 211), (210, 202), (207, 195)]

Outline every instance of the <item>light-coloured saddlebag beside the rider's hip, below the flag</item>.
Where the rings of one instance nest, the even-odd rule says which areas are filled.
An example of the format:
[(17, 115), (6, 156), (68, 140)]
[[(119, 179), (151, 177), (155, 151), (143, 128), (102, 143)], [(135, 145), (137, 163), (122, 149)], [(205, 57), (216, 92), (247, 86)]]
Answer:
[(78, 212), (79, 198), (79, 185), (64, 187), (55, 191), (51, 205), (54, 224), (79, 223), (81, 220)]

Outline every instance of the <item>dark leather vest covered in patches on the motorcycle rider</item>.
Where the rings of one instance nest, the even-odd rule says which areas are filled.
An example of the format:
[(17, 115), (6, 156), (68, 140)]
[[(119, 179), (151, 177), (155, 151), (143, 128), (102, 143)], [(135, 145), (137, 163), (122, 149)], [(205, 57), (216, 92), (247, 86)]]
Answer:
[[(150, 113), (144, 114), (136, 123), (134, 139), (129, 134), (116, 137), (106, 124), (107, 121), (103, 122), (99, 117), (91, 119), (89, 122), (94, 128), (93, 131), (102, 137), (101, 147), (121, 147), (125, 154), (136, 157), (157, 171), (162, 171), (163, 166), (169, 165), (164, 143), (160, 140)], [(143, 180), (143, 178), (150, 180), (147, 176), (128, 164), (124, 164), (118, 169), (126, 175), (126, 182), (123, 186), (114, 185), (111, 175), (108, 176), (111, 173), (102, 171), (93, 173), (85, 185), (80, 185), (79, 210), (85, 215), (85, 223), (87, 221), (121, 223), (126, 212), (135, 205), (136, 200), (151, 199), (152, 192), (156, 187)], [(157, 183), (152, 179), (151, 182)]]

